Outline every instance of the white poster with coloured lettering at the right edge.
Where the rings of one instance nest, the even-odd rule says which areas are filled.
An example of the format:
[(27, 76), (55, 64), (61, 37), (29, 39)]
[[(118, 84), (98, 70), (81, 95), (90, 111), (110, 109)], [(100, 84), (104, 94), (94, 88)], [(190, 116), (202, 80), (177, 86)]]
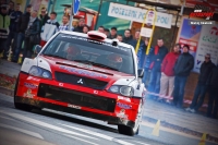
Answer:
[(194, 72), (199, 72), (199, 68), (205, 60), (206, 53), (209, 53), (211, 61), (215, 64), (218, 64), (218, 24), (202, 26)]

